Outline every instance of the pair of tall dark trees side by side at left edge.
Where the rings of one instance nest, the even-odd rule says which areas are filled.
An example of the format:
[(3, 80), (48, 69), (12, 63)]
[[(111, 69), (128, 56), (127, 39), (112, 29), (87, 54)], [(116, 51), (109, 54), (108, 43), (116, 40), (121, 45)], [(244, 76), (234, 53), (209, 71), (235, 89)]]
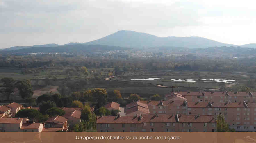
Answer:
[(19, 80), (15, 81), (11, 77), (4, 77), (1, 79), (2, 88), (0, 89), (0, 93), (2, 93), (7, 100), (9, 100), (11, 94), (14, 92), (15, 88), (19, 90), (19, 94), (22, 99), (30, 98), (34, 92), (29, 80)]

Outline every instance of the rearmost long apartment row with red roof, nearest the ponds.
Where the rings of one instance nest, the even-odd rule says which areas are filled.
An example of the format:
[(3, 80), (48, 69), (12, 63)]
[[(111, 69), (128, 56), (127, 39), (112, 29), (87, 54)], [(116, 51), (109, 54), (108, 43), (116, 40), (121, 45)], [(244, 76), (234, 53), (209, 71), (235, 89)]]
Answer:
[(256, 102), (256, 92), (176, 92), (188, 102)]

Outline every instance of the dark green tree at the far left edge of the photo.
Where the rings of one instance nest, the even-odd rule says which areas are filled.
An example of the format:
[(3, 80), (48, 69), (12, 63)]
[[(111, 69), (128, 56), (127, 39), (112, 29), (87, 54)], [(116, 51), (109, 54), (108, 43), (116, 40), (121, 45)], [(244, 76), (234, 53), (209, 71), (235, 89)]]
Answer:
[(3, 84), (3, 88), (0, 89), (0, 93), (7, 97), (7, 100), (9, 100), (11, 93), (14, 92), (15, 81), (11, 77), (4, 77), (0, 81)]

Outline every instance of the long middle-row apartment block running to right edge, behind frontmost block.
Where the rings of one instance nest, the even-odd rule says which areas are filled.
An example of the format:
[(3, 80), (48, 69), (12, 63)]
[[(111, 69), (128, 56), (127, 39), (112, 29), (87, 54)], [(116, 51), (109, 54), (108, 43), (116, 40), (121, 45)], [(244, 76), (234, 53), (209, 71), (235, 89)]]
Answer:
[(186, 102), (140, 101), (148, 105), (150, 114), (212, 115), (222, 114), (236, 131), (256, 131), (255, 102)]

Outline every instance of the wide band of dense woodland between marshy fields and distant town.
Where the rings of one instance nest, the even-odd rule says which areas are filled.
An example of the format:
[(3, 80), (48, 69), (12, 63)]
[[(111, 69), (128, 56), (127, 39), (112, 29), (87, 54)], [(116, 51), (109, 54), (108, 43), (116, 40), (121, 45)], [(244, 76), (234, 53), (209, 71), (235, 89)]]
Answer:
[[(77, 71), (87, 73), (87, 68), (112, 68), (115, 67), (115, 74), (123, 71), (137, 70), (187, 70), (187, 71), (247, 71), (256, 72), (256, 58), (129, 58), (112, 59), (109, 57), (64, 57), (60, 55), (44, 55), (44, 56), (6, 56), (0, 58), (0, 67), (17, 67), (17, 68), (37, 68), (37, 67), (52, 67), (52, 68), (74, 68), (75, 71), (66, 70), (68, 74), (75, 75)], [(39, 62), (40, 61), (40, 62)], [(38, 70), (22, 70), (25, 73), (39, 72)], [(113, 73), (112, 73), (113, 74)]]

